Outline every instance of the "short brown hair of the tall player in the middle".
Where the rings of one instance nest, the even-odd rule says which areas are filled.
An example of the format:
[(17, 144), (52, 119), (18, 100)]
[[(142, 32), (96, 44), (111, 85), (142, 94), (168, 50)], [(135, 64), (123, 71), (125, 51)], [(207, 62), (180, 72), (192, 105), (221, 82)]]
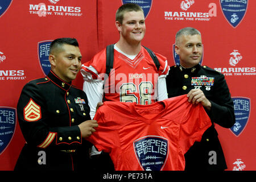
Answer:
[(118, 8), (117, 13), (115, 13), (115, 20), (122, 24), (123, 14), (130, 11), (135, 11), (135, 12), (142, 11), (142, 13), (144, 14), (144, 11), (141, 6), (135, 3), (126, 3)]

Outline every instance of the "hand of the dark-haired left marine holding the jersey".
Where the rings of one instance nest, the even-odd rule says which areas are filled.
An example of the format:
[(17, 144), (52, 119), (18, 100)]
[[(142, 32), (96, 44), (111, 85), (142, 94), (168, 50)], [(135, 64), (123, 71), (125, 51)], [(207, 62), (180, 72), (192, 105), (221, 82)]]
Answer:
[(81, 131), (82, 138), (90, 137), (94, 131), (94, 127), (98, 127), (98, 123), (96, 120), (87, 120), (82, 122), (79, 126)]

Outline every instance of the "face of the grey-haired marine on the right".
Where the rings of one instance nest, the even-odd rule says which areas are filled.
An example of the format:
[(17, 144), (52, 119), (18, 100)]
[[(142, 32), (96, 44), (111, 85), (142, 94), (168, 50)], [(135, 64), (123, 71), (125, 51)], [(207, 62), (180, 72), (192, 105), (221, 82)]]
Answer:
[(181, 35), (177, 39), (175, 52), (180, 56), (180, 64), (184, 68), (199, 64), (203, 52), (201, 35)]

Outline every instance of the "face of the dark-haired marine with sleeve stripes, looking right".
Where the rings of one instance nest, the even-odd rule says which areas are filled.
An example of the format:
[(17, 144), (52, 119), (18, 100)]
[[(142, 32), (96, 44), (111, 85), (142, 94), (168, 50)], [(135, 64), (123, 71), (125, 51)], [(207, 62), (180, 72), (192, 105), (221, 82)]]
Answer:
[(49, 55), (52, 71), (65, 82), (76, 78), (81, 69), (82, 55), (79, 47), (63, 44), (60, 49)]

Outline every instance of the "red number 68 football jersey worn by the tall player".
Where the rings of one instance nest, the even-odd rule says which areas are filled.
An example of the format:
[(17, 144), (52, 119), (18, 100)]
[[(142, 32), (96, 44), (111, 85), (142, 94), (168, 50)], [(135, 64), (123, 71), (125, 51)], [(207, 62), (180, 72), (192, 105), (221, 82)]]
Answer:
[[(169, 71), (166, 57), (158, 53), (155, 55), (160, 63), (159, 70), (143, 46), (133, 60), (114, 49), (113, 69), (105, 80), (105, 100), (142, 105), (155, 102), (158, 77), (167, 75)], [(106, 49), (83, 64), (81, 72), (91, 73), (93, 79), (103, 80), (106, 76)]]

